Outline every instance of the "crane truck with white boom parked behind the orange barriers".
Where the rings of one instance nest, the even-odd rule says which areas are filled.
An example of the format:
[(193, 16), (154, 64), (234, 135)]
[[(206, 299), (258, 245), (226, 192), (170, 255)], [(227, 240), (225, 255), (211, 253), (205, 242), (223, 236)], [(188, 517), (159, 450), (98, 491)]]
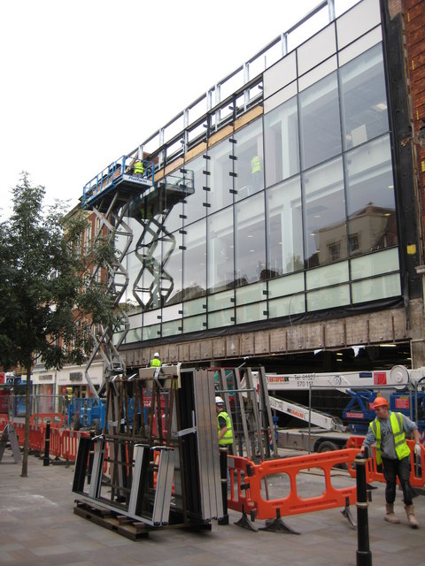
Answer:
[[(418, 424), (421, 440), (425, 437), (425, 368), (408, 370), (397, 365), (390, 370), (348, 371), (333, 373), (267, 373), (267, 390), (271, 409), (305, 423), (303, 428), (279, 428), (279, 447), (325, 452), (344, 448), (352, 434), (366, 434), (375, 418), (371, 403), (382, 394), (390, 410), (405, 414)], [(313, 390), (336, 390), (351, 395), (342, 419), (309, 406), (291, 402), (276, 394)], [(273, 395), (272, 395), (273, 393)], [(344, 424), (346, 423), (346, 424)]]

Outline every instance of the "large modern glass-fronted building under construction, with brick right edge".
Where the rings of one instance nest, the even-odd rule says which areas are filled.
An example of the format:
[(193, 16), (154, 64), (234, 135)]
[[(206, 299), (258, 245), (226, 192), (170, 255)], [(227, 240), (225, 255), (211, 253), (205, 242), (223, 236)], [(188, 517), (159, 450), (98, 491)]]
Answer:
[(425, 365), (424, 35), (421, 0), (320, 2), (129, 154), (128, 368)]

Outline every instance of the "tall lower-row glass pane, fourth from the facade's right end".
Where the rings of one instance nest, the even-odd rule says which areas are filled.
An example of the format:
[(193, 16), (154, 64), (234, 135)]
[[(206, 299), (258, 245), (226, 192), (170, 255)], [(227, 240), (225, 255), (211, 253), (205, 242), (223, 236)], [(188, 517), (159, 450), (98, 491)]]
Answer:
[(236, 287), (264, 278), (266, 233), (264, 194), (236, 204)]

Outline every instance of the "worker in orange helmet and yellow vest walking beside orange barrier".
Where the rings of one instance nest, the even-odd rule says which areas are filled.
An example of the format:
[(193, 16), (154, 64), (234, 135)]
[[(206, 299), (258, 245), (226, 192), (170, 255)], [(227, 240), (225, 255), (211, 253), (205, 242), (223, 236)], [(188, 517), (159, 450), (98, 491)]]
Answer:
[(391, 412), (388, 401), (381, 396), (376, 397), (372, 403), (376, 418), (369, 424), (367, 435), (361, 447), (364, 454), (366, 447), (376, 442), (376, 464), (383, 465), (385, 486), (385, 516), (389, 523), (399, 523), (394, 515), (394, 501), (396, 500), (397, 478), (403, 490), (407, 520), (413, 529), (419, 524), (414, 516), (412, 503), (412, 487), (410, 485), (410, 448), (406, 443), (406, 433), (413, 432), (416, 442), (414, 454), (421, 455), (418, 427), (402, 413)]

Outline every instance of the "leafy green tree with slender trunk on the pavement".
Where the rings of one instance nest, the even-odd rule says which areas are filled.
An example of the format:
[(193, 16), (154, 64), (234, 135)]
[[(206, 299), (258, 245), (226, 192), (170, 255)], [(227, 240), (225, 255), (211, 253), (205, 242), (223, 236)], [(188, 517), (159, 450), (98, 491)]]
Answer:
[(33, 187), (27, 172), (12, 193), (12, 216), (0, 224), (0, 363), (27, 375), (25, 478), (34, 364), (60, 369), (84, 363), (93, 347), (90, 326), (117, 328), (120, 315), (105, 282), (89, 285), (95, 265), (113, 261), (113, 237), (105, 234), (82, 253), (82, 211), (66, 215), (60, 202), (43, 207), (44, 187)]

